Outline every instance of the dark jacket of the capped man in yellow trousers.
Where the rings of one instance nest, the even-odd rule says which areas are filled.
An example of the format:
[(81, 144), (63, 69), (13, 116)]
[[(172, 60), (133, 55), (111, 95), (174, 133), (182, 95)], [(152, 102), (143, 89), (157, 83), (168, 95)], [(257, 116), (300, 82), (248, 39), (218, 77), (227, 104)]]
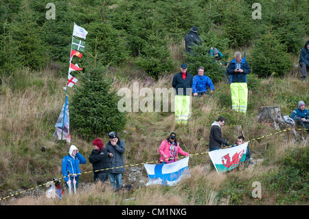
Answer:
[[(183, 80), (181, 72), (176, 73), (173, 78), (172, 87), (176, 89), (176, 95), (191, 95), (193, 77), (191, 73), (187, 72), (187, 77)], [(183, 89), (183, 91), (181, 91)], [(187, 93), (187, 89), (190, 89), (190, 93)]]

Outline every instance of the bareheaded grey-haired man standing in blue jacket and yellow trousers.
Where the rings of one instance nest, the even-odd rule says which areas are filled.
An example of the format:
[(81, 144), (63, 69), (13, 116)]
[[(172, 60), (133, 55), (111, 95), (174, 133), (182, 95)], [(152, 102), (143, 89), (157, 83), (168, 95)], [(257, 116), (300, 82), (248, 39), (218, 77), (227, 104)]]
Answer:
[(231, 76), (231, 101), (234, 111), (247, 113), (247, 74), (249, 73), (251, 73), (251, 69), (246, 59), (242, 58), (239, 51), (236, 51), (235, 58), (227, 67), (227, 74)]

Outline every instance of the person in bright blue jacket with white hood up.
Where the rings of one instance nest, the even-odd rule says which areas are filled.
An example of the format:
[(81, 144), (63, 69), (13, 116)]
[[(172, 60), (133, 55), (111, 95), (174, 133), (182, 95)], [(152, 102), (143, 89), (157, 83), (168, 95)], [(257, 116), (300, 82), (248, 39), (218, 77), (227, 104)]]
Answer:
[[(78, 148), (76, 146), (71, 145), (69, 154), (67, 156), (63, 157), (62, 159), (62, 175), (65, 179), (65, 183), (67, 185), (69, 181), (69, 176), (67, 171), (69, 170), (70, 174), (70, 181), (71, 181), (71, 188), (73, 188), (73, 175), (75, 176), (76, 180), (76, 188), (78, 187), (78, 181), (80, 176), (80, 164), (86, 163), (86, 159), (82, 157), (82, 154), (78, 152)], [(67, 187), (69, 187), (67, 185)]]

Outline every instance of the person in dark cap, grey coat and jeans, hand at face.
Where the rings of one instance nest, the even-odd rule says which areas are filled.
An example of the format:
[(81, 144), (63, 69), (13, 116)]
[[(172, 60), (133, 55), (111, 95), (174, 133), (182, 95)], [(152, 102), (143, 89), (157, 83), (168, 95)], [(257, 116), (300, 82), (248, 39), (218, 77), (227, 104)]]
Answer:
[(111, 185), (114, 189), (122, 187), (122, 173), (124, 172), (124, 151), (126, 146), (124, 140), (119, 139), (117, 132), (108, 133), (109, 141), (106, 143), (106, 151), (111, 157), (108, 162), (109, 168), (112, 168), (108, 174)]

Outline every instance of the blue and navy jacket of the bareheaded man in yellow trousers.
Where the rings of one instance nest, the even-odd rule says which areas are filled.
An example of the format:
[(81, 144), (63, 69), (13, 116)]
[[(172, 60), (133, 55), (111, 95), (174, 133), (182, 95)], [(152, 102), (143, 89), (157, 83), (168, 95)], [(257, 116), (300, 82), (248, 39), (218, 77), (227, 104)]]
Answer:
[(242, 58), (242, 62), (240, 63), (240, 69), (244, 71), (242, 73), (235, 72), (235, 69), (236, 60), (234, 58), (227, 67), (227, 74), (231, 75), (231, 83), (247, 83), (247, 74), (251, 72), (251, 69), (244, 58)]

